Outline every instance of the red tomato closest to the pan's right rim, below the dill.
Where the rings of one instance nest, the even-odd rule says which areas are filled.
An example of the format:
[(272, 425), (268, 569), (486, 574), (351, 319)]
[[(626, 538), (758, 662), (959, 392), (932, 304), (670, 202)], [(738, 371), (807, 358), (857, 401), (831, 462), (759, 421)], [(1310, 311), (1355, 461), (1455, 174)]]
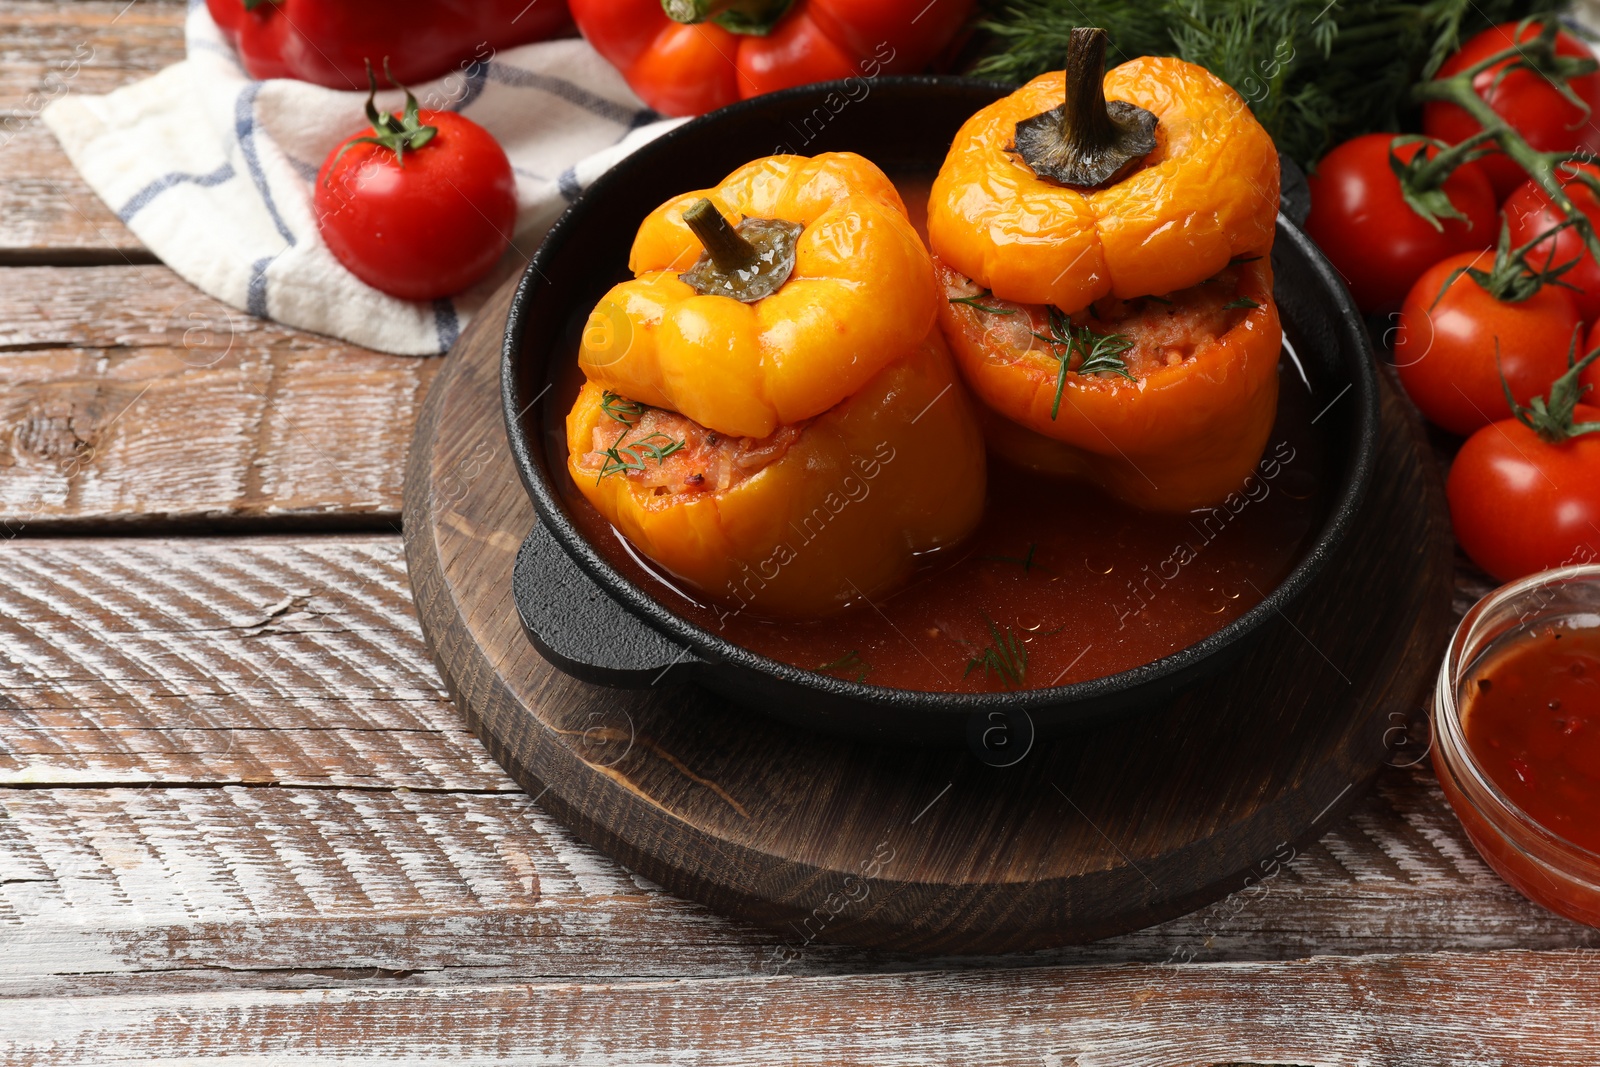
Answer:
[[(1490, 248), (1499, 232), (1494, 190), (1477, 163), (1456, 168), (1443, 186), (1466, 221), (1443, 218), (1443, 229), (1434, 229), (1400, 194), (1389, 165), (1392, 144), (1387, 133), (1352, 138), (1325, 155), (1310, 176), (1306, 232), (1368, 314), (1398, 307), (1424, 270), (1445, 256)], [(1429, 157), (1437, 152), (1411, 142), (1395, 155), (1410, 162), (1424, 147)]]

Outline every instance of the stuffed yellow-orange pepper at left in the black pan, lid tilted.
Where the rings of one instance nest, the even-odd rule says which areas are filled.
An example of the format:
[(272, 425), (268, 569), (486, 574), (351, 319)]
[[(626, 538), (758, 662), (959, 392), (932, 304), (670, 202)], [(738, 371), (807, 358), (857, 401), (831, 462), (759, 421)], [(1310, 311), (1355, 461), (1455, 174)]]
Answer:
[(819, 616), (978, 525), (933, 264), (872, 163), (757, 160), (651, 213), (630, 264), (584, 334), (568, 470), (650, 560), (734, 609)]

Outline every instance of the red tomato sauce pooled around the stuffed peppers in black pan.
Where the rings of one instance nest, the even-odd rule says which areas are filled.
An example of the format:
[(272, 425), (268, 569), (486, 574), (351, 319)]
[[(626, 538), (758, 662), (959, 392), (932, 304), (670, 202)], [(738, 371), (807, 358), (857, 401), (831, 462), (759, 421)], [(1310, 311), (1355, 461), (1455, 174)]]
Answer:
[[(898, 182), (922, 229), (926, 178)], [(984, 518), (891, 597), (819, 621), (698, 603), (642, 565), (576, 491), (568, 509), (624, 576), (771, 659), (904, 689), (987, 693), (1098, 678), (1210, 637), (1258, 605), (1326, 512), (1330, 456), (1291, 354), (1256, 474), (1222, 506), (1157, 515), (990, 458)], [(576, 386), (573, 386), (576, 392)], [(1320, 406), (1320, 405), (1318, 405)], [(1021, 669), (1018, 665), (1021, 664)]]

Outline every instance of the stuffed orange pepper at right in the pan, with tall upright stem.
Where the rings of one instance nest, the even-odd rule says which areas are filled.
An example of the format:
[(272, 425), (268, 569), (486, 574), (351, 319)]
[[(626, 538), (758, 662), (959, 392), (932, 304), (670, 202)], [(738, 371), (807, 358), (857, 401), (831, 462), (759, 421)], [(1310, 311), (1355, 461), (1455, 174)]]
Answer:
[(997, 453), (1203, 507), (1277, 411), (1277, 152), (1205, 69), (1104, 61), (1104, 30), (1074, 30), (1066, 72), (955, 136), (928, 202), (941, 325)]

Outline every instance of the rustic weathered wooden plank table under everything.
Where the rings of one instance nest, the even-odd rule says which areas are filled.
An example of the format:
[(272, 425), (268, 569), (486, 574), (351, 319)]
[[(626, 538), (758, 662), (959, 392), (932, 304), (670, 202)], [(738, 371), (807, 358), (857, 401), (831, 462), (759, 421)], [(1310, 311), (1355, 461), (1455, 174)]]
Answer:
[(1600, 931), (1502, 885), (1426, 761), (1226, 901), (1006, 958), (774, 973), (554, 824), (411, 609), (440, 362), (200, 296), (37, 122), (179, 59), (182, 13), (0, 0), (0, 1061), (1600, 1056)]

